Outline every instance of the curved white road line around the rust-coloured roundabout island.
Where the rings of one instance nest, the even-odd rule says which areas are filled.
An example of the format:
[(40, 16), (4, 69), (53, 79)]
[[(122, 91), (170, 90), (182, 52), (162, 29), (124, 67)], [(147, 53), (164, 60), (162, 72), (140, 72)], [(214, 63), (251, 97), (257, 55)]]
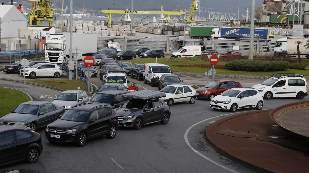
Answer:
[[(264, 109), (264, 110), (267, 110), (267, 109)], [(251, 112), (251, 111), (242, 111), (242, 112), (237, 112), (237, 113), (240, 114), (240, 113), (244, 113), (244, 112)], [(224, 114), (224, 115), (218, 115), (218, 116), (215, 116), (215, 117), (211, 117), (211, 118), (208, 118), (208, 119), (204, 119), (204, 120), (202, 120), (202, 121), (200, 121), (200, 122), (197, 122), (197, 123), (193, 124), (193, 125), (190, 126), (190, 127), (186, 130), (186, 132), (184, 133), (184, 140), (186, 141), (188, 147), (189, 147), (191, 150), (193, 150), (194, 152), (196, 152), (198, 155), (202, 156), (204, 159), (206, 159), (206, 160), (208, 160), (208, 161), (210, 161), (210, 162), (212, 162), (212, 163), (218, 165), (219, 167), (222, 167), (222, 168), (226, 169), (227, 171), (231, 171), (231, 172), (233, 172), (233, 173), (237, 173), (236, 171), (233, 171), (233, 170), (231, 170), (231, 169), (229, 169), (229, 168), (227, 168), (227, 167), (225, 167), (225, 166), (223, 166), (223, 165), (220, 165), (219, 163), (217, 163), (217, 162), (215, 162), (215, 161), (209, 159), (209, 158), (206, 157), (205, 155), (203, 155), (203, 154), (201, 154), (200, 152), (198, 152), (196, 149), (194, 149), (194, 148), (192, 147), (192, 145), (190, 144), (190, 142), (189, 142), (189, 140), (188, 140), (188, 133), (189, 133), (189, 131), (190, 131), (194, 126), (196, 126), (197, 124), (203, 123), (204, 121), (207, 121), (207, 120), (210, 120), (210, 119), (222, 117), (222, 116), (225, 116), (225, 115), (231, 115), (231, 114), (235, 114), (235, 113)]]

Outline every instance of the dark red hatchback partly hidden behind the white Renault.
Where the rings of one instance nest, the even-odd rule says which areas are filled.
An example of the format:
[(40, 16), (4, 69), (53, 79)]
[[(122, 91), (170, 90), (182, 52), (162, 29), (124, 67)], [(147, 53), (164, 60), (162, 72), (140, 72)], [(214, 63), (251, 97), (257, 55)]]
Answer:
[(236, 81), (215, 80), (201, 88), (197, 88), (195, 91), (198, 99), (211, 100), (214, 96), (220, 95), (228, 89), (242, 87), (243, 86)]

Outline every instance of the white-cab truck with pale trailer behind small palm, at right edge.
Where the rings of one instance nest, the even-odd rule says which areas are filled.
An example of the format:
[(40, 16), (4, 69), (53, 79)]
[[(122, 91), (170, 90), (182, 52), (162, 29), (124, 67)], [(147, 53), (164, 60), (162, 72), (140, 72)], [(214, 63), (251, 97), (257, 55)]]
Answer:
[(280, 38), (276, 41), (276, 46), (274, 47), (274, 54), (279, 58), (295, 58), (298, 57), (297, 54), (297, 44), (295, 41), (302, 42), (299, 45), (299, 52), (301, 58), (309, 58), (309, 49), (306, 49), (303, 45), (306, 44), (308, 38)]

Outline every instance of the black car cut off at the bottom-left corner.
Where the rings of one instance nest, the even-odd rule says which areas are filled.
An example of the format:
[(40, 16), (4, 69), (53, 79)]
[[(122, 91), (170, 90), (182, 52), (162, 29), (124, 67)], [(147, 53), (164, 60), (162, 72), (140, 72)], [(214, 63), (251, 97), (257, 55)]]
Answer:
[(35, 163), (42, 151), (41, 135), (31, 128), (0, 125), (0, 166), (22, 160)]

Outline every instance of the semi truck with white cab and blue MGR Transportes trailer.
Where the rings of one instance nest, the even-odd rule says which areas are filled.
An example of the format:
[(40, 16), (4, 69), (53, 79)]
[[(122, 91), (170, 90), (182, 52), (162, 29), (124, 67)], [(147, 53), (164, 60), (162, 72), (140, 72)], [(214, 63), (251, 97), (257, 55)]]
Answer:
[[(211, 38), (239, 39), (250, 38), (250, 28), (216, 27), (212, 29)], [(254, 28), (254, 38), (267, 39), (275, 38), (268, 34), (268, 29)]]

